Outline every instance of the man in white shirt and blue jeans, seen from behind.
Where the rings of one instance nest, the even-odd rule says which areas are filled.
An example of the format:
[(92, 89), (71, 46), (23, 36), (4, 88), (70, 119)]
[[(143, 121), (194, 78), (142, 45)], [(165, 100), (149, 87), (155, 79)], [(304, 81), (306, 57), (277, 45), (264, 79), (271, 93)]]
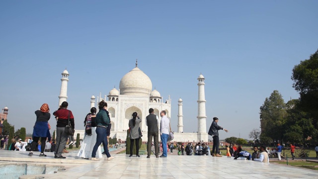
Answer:
[(165, 111), (160, 112), (161, 121), (160, 121), (160, 138), (162, 143), (162, 155), (159, 157), (167, 157), (167, 141), (169, 136), (169, 119), (165, 116)]

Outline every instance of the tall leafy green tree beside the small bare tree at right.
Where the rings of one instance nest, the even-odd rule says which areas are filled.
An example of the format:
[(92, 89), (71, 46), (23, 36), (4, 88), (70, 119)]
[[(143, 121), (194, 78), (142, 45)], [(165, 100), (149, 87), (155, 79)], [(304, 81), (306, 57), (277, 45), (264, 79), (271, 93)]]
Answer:
[(273, 141), (282, 141), (283, 139), (283, 126), (287, 115), (285, 105), (282, 95), (278, 90), (274, 90), (260, 106), (261, 133)]

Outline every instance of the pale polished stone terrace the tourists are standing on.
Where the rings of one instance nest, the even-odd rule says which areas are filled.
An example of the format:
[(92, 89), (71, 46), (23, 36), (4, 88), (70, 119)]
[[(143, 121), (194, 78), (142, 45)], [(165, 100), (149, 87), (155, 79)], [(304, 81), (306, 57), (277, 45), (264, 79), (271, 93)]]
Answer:
[[(117, 151), (118, 152), (118, 151)], [(116, 153), (113, 151), (112, 153)], [(56, 174), (26, 175), (20, 179), (314, 179), (318, 178), (315, 170), (292, 166), (264, 164), (254, 161), (233, 160), (227, 157), (177, 156), (168, 153), (167, 158), (150, 159), (146, 155), (140, 158), (124, 154), (112, 154), (111, 161), (90, 161), (76, 157), (77, 151), (64, 156), (67, 159), (32, 157), (28, 152), (0, 150), (0, 164), (47, 164), (63, 166)]]

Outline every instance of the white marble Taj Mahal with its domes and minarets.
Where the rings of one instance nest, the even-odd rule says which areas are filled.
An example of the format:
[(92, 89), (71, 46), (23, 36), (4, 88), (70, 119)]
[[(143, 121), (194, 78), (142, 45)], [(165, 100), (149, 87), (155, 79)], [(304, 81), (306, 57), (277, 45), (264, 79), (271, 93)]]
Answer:
[[(59, 105), (67, 100), (67, 85), (69, 81), (69, 72), (67, 70), (62, 73), (62, 85), (59, 95)], [(205, 112), (205, 93), (204, 93), (204, 77), (201, 74), (198, 77), (198, 132), (186, 133), (183, 132), (183, 115), (182, 115), (182, 99), (178, 99), (178, 125), (177, 132), (174, 132), (173, 141), (188, 142), (188, 141), (208, 141), (208, 134), (206, 131), (206, 112)], [(107, 96), (107, 97), (106, 97)], [(166, 116), (171, 120), (171, 99), (163, 99), (158, 90), (153, 90), (151, 79), (136, 67), (128, 72), (120, 80), (119, 89), (113, 88), (108, 95), (104, 97), (92, 95), (90, 98), (90, 107), (96, 107), (98, 110), (98, 102), (104, 100), (108, 104), (108, 112), (111, 120), (111, 138), (126, 140), (128, 121), (132, 118), (132, 113), (137, 112), (142, 119), (140, 128), (143, 133), (142, 140), (147, 141), (147, 125), (145, 122), (146, 116), (149, 114), (149, 108), (153, 108), (155, 114), (159, 117), (159, 112), (164, 110)], [(88, 109), (90, 110), (90, 109)], [(171, 122), (171, 121), (170, 121)], [(188, 124), (191, 125), (191, 124)], [(76, 130), (75, 134), (79, 133), (80, 138), (84, 137), (84, 130)], [(160, 137), (159, 137), (160, 141)]]

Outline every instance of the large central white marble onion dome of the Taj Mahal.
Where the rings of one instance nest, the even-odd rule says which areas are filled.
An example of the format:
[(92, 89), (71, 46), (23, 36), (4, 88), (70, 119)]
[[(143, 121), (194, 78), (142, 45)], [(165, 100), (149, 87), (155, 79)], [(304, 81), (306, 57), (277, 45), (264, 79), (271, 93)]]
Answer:
[(153, 84), (143, 71), (135, 67), (120, 80), (119, 89), (120, 94), (149, 96)]

